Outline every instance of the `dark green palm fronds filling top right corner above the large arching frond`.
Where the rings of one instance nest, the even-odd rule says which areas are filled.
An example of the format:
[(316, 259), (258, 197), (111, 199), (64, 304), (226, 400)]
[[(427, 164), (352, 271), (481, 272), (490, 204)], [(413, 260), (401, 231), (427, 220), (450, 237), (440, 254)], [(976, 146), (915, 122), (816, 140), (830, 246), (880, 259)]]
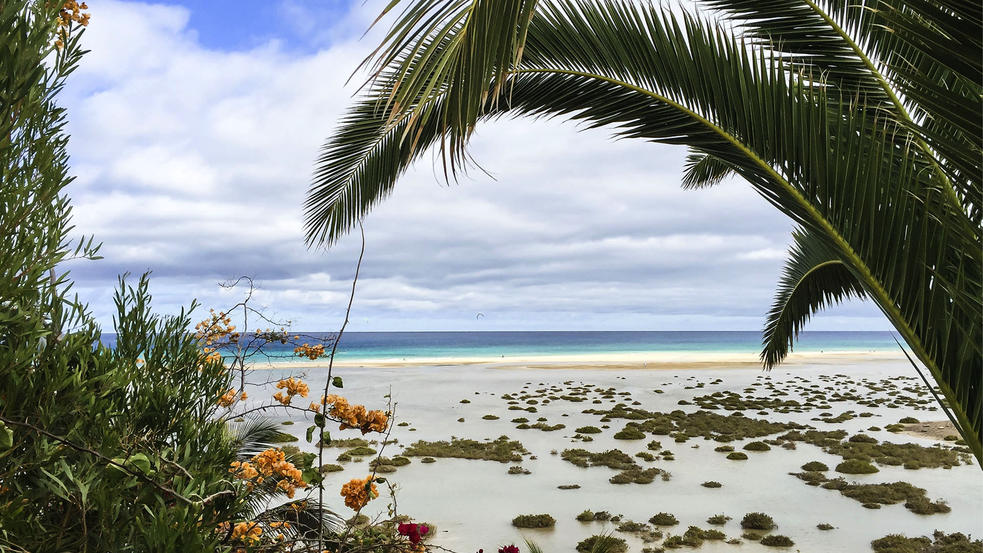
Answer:
[[(759, 46), (913, 133), (937, 186), (983, 219), (981, 13), (948, 0), (705, 0)], [(898, 135), (901, 141), (910, 140)], [(912, 153), (914, 154), (914, 153)], [(978, 234), (978, 232), (977, 232)]]

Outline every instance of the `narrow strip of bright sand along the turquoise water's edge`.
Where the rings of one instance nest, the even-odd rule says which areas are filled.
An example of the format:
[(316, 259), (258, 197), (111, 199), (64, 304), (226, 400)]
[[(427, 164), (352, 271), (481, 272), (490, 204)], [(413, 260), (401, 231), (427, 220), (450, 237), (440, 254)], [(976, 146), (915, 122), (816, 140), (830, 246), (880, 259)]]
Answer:
[[(761, 367), (758, 353), (711, 351), (648, 351), (630, 353), (580, 353), (516, 356), (408, 357), (335, 359), (335, 367), (398, 368), (419, 366), (486, 365), (495, 369), (607, 369), (680, 370)], [(900, 351), (800, 351), (789, 353), (781, 366), (804, 364), (847, 365), (870, 361), (904, 361)], [(257, 363), (254, 369), (319, 369), (326, 360)]]

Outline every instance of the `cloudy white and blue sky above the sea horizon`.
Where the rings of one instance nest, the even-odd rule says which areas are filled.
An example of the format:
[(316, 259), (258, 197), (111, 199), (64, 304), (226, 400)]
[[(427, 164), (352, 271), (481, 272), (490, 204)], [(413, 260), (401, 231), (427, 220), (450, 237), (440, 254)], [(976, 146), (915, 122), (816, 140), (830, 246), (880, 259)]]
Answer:
[[(253, 305), (337, 330), (361, 238), (303, 240), (318, 151), (358, 92), (382, 0), (88, 2), (90, 50), (62, 93), (77, 235), (66, 267), (111, 330), (124, 273), (175, 313)], [(488, 171), (447, 183), (425, 155), (365, 220), (350, 331), (760, 330), (791, 223), (740, 180), (679, 187), (685, 150), (562, 120), (477, 131)], [(478, 317), (482, 313), (484, 317)], [(890, 330), (870, 303), (812, 330)]]

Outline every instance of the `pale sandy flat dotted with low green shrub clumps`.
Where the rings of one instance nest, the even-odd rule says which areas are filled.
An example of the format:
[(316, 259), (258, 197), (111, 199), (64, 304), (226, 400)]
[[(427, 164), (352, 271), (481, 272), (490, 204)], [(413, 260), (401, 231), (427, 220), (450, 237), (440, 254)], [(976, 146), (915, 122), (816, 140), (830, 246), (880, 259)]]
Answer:
[[(678, 368), (683, 364), (691, 369)], [(305, 381), (312, 386), (321, 386), (326, 378), (322, 363), (317, 361), (279, 366), (284, 373), (303, 370)], [(524, 370), (527, 367), (535, 368)], [(418, 440), (446, 441), (453, 437), (489, 441), (507, 436), (528, 450), (521, 462), (511, 463), (440, 457), (427, 462), (411, 456), (408, 464), (386, 474), (399, 486), (400, 513), (418, 522), (435, 524), (436, 542), (454, 551), (489, 551), (503, 543), (521, 544), (524, 538), (535, 540), (545, 551), (573, 551), (579, 540), (600, 533), (626, 539), (629, 551), (635, 553), (652, 547), (636, 534), (618, 531), (619, 522), (578, 521), (576, 517), (584, 510), (607, 511), (611, 516), (620, 516), (622, 522), (646, 522), (657, 513), (671, 513), (679, 524), (662, 527), (666, 536), (681, 534), (689, 525), (696, 525), (718, 528), (728, 539), (742, 542), (735, 546), (723, 540), (707, 541), (700, 548), (706, 553), (775, 550), (741, 537), (740, 518), (753, 512), (775, 518), (779, 524), (776, 533), (795, 541), (791, 551), (808, 553), (870, 551), (871, 540), (892, 533), (932, 535), (940, 529), (976, 536), (983, 531), (979, 522), (983, 520), (979, 467), (975, 463), (951, 469), (909, 469), (879, 463), (879, 471), (874, 474), (841, 474), (835, 467), (842, 457), (807, 443), (790, 449), (776, 443), (771, 451), (749, 451), (746, 461), (730, 461), (726, 453), (718, 451), (720, 446), (744, 452), (744, 446), (755, 438), (719, 442), (695, 436), (684, 443), (667, 435), (618, 439), (615, 433), (628, 422), (637, 421), (607, 419), (597, 411), (622, 403), (664, 413), (705, 411), (729, 416), (734, 411), (725, 407), (708, 410), (696, 403), (700, 397), (706, 401), (713, 398), (712, 394), (721, 393), (721, 400), (725, 400), (733, 393), (743, 401), (755, 403), (737, 411), (744, 418), (808, 425), (820, 431), (842, 430), (884, 443), (914, 442), (926, 448), (941, 443), (952, 447), (940, 438), (887, 430), (904, 417), (931, 421), (921, 424), (934, 430), (945, 426), (938, 422), (944, 415), (935, 409), (934, 400), (922, 389), (920, 378), (899, 351), (798, 352), (770, 373), (761, 371), (753, 353), (608, 353), (470, 357), (460, 361), (346, 359), (334, 369), (333, 374), (344, 379), (343, 392), (351, 401), (372, 408), (394, 402), (398, 422), (389, 437), (394, 441), (387, 446), (371, 444), (380, 456), (395, 458)], [(270, 376), (258, 371), (252, 378), (262, 383)], [(260, 390), (251, 392), (245, 407), (266, 401), (275, 392), (270, 384), (260, 384)], [(575, 393), (584, 394), (579, 396), (583, 399), (578, 400)], [(874, 399), (878, 402), (871, 403)], [(780, 404), (787, 400), (798, 401), (802, 408)], [(805, 406), (810, 401), (814, 406)], [(824, 413), (827, 416), (820, 416)], [(292, 419), (290, 412), (276, 407), (265, 414), (275, 420)], [(529, 425), (520, 424), (526, 420)], [(284, 431), (297, 436), (295, 444), (302, 451), (316, 451), (304, 439), (308, 420), (297, 418), (295, 422), (284, 426)], [(546, 428), (540, 430), (533, 426), (536, 424)], [(579, 429), (587, 426), (596, 426), (599, 432), (578, 435)], [(908, 426), (910, 429), (916, 425)], [(775, 439), (782, 432), (760, 439)], [(350, 435), (333, 428), (332, 436), (358, 437), (357, 433)], [(661, 444), (656, 452), (648, 449), (653, 440)], [(670, 472), (670, 477), (657, 478), (650, 484), (616, 485), (610, 478), (618, 473), (617, 469), (582, 467), (558, 455), (576, 448), (590, 452), (618, 449), (643, 468), (657, 467)], [(331, 448), (326, 452), (325, 461), (343, 467), (326, 478), (332, 506), (347, 517), (352, 511), (338, 505), (336, 490), (349, 479), (371, 472), (369, 463), (373, 458), (336, 460), (343, 451)], [(670, 459), (674, 461), (665, 456), (645, 461), (637, 455), (666, 451), (672, 452), (674, 458)], [(835, 490), (807, 485), (789, 474), (802, 470), (803, 464), (810, 461), (827, 464), (829, 478), (844, 476), (851, 483), (909, 482), (924, 489), (930, 500), (945, 501), (952, 512), (919, 515), (906, 509), (903, 502), (877, 509), (864, 507)], [(511, 464), (521, 465), (530, 473), (510, 473)], [(719, 482), (723, 487), (704, 486), (708, 481)], [(558, 488), (570, 484), (579, 487)], [(478, 497), (481, 501), (476, 501)], [(373, 502), (365, 514), (385, 517), (388, 503), (388, 498)], [(803, 505), (808, 508), (803, 509)], [(538, 514), (552, 516), (555, 526), (520, 529), (511, 524), (516, 516)], [(710, 526), (708, 518), (718, 514), (733, 520)], [(835, 529), (819, 529), (820, 522), (832, 524)]]

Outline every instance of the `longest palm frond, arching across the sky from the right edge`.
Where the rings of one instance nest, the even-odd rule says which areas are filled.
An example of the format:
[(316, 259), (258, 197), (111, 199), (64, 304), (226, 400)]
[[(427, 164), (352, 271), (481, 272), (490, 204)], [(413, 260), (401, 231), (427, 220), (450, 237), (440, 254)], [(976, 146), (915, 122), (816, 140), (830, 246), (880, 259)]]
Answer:
[[(478, 40), (457, 33), (462, 29), (455, 23), (431, 42)], [(936, 160), (912, 154), (917, 137), (908, 125), (880, 105), (831, 95), (830, 87), (788, 69), (772, 50), (748, 47), (695, 17), (619, 1), (556, 2), (537, 9), (507, 97), (484, 98), (468, 109), (480, 119), (563, 116), (584, 128), (604, 127), (615, 138), (686, 145), (732, 168), (803, 231), (824, 240), (857, 277), (936, 378), (961, 426), (975, 432), (966, 441), (978, 452), (979, 229), (967, 223), (952, 189), (940, 185)], [(449, 81), (440, 87), (498, 87), (495, 77), (484, 81), (483, 71), (442, 75)], [(401, 86), (434, 80), (427, 71), (401, 75)], [(376, 177), (316, 182), (313, 190), (334, 198), (331, 206), (309, 198), (309, 210), (340, 214), (333, 224), (309, 218), (309, 231), (318, 229), (328, 241), (368, 212), (367, 198), (391, 190), (416, 149), (446, 136), (463, 145), (470, 133), (453, 123), (421, 126), (412, 148), (403, 150), (400, 113), (413, 106), (380, 110), (383, 89), (370, 94), (372, 114), (354, 117), (342, 130), (367, 140), (352, 148), (339, 143), (343, 155), (325, 159), (337, 164), (332, 174)]]

